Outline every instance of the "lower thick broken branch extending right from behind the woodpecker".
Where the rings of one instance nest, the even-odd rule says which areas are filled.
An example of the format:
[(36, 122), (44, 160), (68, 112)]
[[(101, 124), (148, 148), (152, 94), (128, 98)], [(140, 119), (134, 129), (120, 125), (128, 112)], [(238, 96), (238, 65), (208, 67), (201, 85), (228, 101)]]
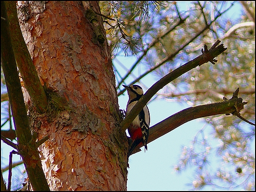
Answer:
[[(193, 119), (213, 116), (218, 114), (228, 114), (234, 113), (237, 111), (235, 108), (236, 103), (239, 102), (242, 105), (245, 103), (242, 102), (241, 98), (232, 98), (230, 100), (216, 102), (212, 104), (205, 104), (187, 108), (185, 110), (181, 110), (170, 117), (162, 120), (158, 124), (152, 126), (149, 129), (149, 138), (148, 143), (151, 141), (169, 133), (170, 131), (176, 129), (180, 125), (187, 123)], [(140, 147), (143, 145), (138, 145), (132, 154), (139, 152)]]

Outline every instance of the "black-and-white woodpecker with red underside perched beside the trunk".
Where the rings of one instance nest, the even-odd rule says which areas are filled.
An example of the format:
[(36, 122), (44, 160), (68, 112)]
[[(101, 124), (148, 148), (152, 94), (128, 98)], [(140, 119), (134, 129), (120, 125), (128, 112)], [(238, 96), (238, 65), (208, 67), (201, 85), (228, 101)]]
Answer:
[[(127, 89), (128, 96), (129, 96), (129, 100), (126, 107), (126, 114), (128, 114), (128, 112), (133, 108), (133, 106), (138, 102), (138, 100), (143, 95), (143, 90), (141, 86), (136, 84), (133, 84), (130, 86), (127, 86), (127, 85), (123, 85), (123, 86)], [(139, 112), (139, 114), (135, 117), (135, 119), (132, 121), (132, 123), (128, 127), (128, 133), (132, 139), (132, 144), (128, 151), (127, 158), (129, 158), (133, 149), (141, 142), (145, 147), (145, 151), (146, 149), (148, 150), (147, 141), (149, 137), (149, 123), (150, 123), (149, 109), (147, 105), (145, 105), (143, 110)]]

